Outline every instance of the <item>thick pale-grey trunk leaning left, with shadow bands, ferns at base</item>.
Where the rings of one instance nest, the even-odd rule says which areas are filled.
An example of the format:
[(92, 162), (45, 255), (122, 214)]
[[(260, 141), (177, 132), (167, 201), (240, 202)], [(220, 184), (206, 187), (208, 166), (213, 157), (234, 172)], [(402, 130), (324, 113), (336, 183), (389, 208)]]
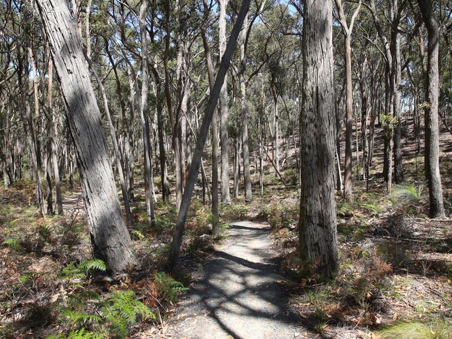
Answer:
[(81, 39), (66, 1), (37, 2), (67, 105), (92, 246), (96, 255), (116, 274), (134, 264), (135, 256), (116, 192), (102, 118)]

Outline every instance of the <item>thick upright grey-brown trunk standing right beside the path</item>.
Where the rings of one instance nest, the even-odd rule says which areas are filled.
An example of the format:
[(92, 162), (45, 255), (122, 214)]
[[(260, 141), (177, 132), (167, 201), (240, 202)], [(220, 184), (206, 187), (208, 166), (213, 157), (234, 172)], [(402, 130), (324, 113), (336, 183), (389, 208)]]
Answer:
[[(332, 2), (305, 0), (302, 55), (300, 257), (307, 274), (337, 271)], [(313, 194), (315, 192), (315, 194)]]

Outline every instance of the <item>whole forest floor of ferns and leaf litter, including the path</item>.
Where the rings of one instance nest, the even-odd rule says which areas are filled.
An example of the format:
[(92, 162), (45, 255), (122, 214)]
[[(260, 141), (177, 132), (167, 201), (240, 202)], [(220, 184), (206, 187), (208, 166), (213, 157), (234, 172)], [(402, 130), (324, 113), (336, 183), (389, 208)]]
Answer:
[[(403, 184), (389, 194), (382, 187), (377, 134), (369, 190), (355, 171), (353, 200), (337, 193), (340, 267), (329, 283), (300, 274), (296, 157), (284, 139), (281, 171), (290, 189), (265, 163), (260, 194), (253, 159), (253, 201), (222, 205), (226, 232), (214, 238), (198, 187), (172, 274), (163, 269), (174, 201), (163, 204), (157, 191), (157, 227), (150, 228), (138, 162), (129, 231), (139, 264), (116, 280), (92, 259), (78, 180), (73, 189), (63, 181), (65, 214), (45, 219), (38, 217), (32, 180), (7, 191), (0, 182), (0, 338), (452, 338), (452, 221), (427, 217), (423, 158), (411, 130), (404, 136)], [(450, 218), (449, 132), (441, 143)]]

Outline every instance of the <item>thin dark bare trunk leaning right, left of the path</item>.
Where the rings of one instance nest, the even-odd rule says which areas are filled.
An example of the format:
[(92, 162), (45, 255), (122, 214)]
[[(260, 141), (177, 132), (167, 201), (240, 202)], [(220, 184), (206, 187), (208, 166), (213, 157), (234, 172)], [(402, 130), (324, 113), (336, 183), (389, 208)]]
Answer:
[(168, 264), (170, 267), (175, 267), (177, 259), (179, 258), (179, 251), (182, 242), (182, 235), (184, 235), (184, 226), (188, 208), (190, 207), (191, 196), (193, 195), (193, 189), (195, 188), (197, 173), (200, 169), (202, 150), (204, 149), (204, 145), (206, 143), (207, 134), (209, 134), (209, 126), (211, 125), (213, 113), (216, 110), (218, 97), (220, 97), (220, 90), (225, 81), (225, 75), (231, 63), (232, 54), (234, 53), (237, 38), (239, 37), (239, 33), (243, 25), (243, 20), (248, 13), (248, 8), (250, 8), (250, 0), (243, 0), (239, 15), (237, 15), (236, 22), (234, 23), (231, 36), (227, 42), (227, 47), (225, 54), (223, 54), (220, 68), (216, 74), (215, 83), (213, 84), (213, 89), (209, 95), (209, 102), (207, 103), (206, 111), (202, 118), (202, 125), (197, 136), (197, 143), (195, 152), (193, 153), (190, 171), (188, 171), (187, 185), (184, 190), (184, 196), (182, 197), (181, 207), (179, 209), (179, 214), (177, 215), (177, 222), (172, 235), (170, 257), (168, 258)]

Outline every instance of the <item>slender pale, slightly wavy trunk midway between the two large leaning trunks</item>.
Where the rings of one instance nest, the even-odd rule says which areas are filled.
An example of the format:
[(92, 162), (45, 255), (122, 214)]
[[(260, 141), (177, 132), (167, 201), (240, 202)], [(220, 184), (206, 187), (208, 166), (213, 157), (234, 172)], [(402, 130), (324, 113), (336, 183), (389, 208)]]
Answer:
[(143, 128), (143, 152), (145, 160), (145, 196), (147, 219), (155, 226), (154, 218), (154, 184), (152, 178), (152, 155), (149, 130), (149, 107), (147, 105), (147, 94), (149, 92), (149, 70), (147, 68), (147, 38), (146, 38), (146, 10), (147, 0), (142, 0), (140, 5), (140, 36), (141, 36), (141, 98), (140, 98), (140, 120)]

